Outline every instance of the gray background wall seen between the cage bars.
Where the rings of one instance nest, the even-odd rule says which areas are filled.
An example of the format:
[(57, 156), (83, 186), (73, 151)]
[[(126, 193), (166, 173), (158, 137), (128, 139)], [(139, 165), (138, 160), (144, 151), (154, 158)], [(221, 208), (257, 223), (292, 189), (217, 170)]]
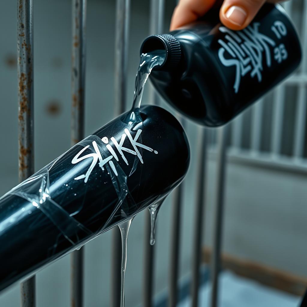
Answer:
[[(168, 2), (168, 1), (166, 1)], [(34, 3), (35, 168), (40, 169), (70, 145), (70, 1), (41, 0)], [(168, 2), (165, 24), (172, 3)], [(132, 1), (128, 103), (132, 103), (138, 48), (148, 34), (149, 4)], [(113, 118), (115, 1), (88, 0), (86, 134)], [(17, 184), (17, 71), (16, 3), (2, 0), (0, 8), (0, 195)], [(167, 27), (166, 27), (167, 28)], [(143, 103), (147, 102), (147, 93)], [(291, 101), (290, 101), (291, 103)], [(168, 108), (165, 104), (164, 107)], [(48, 111), (58, 109), (55, 114)], [(191, 167), (185, 179), (182, 208), (180, 275), (189, 273), (195, 202), (197, 126), (188, 123)], [(307, 177), (295, 173), (227, 165), (223, 250), (240, 257), (307, 277)], [(206, 180), (204, 244), (212, 239), (215, 159), (210, 158)], [(157, 223), (155, 292), (167, 287), (171, 201), (161, 208)], [(133, 221), (128, 238), (126, 306), (141, 302), (144, 220)], [(2, 264), (5, 265), (5, 264)], [(85, 246), (85, 306), (109, 306), (111, 232)], [(69, 256), (37, 274), (37, 305), (69, 305)], [(0, 306), (18, 306), (19, 285), (0, 294)]]

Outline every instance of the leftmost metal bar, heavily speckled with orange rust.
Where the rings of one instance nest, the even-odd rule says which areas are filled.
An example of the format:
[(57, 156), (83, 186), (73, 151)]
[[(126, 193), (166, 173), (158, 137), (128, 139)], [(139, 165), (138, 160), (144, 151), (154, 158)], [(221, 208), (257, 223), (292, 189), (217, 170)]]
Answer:
[[(34, 173), (33, 1), (17, 1), (19, 182)], [(21, 283), (21, 306), (34, 307), (35, 276)]]

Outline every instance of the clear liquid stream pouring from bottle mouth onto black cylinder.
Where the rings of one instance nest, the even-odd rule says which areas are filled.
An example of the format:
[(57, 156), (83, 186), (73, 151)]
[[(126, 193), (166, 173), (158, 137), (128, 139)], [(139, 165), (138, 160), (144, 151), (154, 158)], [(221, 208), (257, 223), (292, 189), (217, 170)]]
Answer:
[(141, 107), (142, 95), (144, 91), (145, 83), (150, 75), (152, 69), (161, 65), (165, 60), (166, 52), (165, 50), (154, 50), (149, 53), (142, 53), (140, 65), (138, 67), (138, 72), (135, 78), (134, 86), (134, 96), (131, 112), (128, 114), (125, 122), (130, 125), (136, 122), (142, 122), (142, 118), (139, 114), (139, 109)]

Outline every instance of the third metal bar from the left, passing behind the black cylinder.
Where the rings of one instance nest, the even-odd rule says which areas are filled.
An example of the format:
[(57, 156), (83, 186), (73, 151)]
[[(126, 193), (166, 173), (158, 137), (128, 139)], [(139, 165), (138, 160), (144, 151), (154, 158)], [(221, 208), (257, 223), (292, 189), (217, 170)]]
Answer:
[[(126, 108), (129, 19), (130, 0), (117, 0), (114, 80), (114, 104), (116, 116), (123, 113)], [(121, 293), (122, 237), (118, 227), (113, 229), (112, 235), (111, 306), (119, 307)]]

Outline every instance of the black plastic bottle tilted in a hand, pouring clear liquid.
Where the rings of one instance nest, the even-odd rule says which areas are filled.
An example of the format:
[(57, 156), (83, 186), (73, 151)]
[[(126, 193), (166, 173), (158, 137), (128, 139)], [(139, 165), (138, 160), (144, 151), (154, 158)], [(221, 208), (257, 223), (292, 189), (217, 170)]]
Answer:
[(285, 79), (301, 61), (293, 24), (265, 4), (251, 25), (232, 31), (218, 10), (169, 34), (147, 37), (141, 53), (165, 49), (150, 80), (166, 101), (205, 126), (220, 126)]

